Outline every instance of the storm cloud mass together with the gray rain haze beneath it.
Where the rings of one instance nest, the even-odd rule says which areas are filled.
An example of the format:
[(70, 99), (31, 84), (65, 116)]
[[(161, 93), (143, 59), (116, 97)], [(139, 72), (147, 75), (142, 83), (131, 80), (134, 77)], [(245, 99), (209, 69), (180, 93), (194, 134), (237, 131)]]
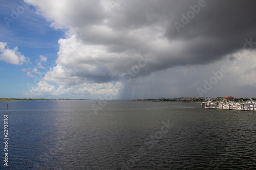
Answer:
[[(255, 87), (256, 65), (251, 57), (256, 44), (255, 1), (26, 2), (53, 29), (66, 33), (58, 41), (57, 65), (42, 79), (46, 82), (81, 89), (87, 83), (122, 82), (125, 98), (198, 96), (198, 87), (209, 92), (230, 85), (231, 77), (243, 80), (238, 87)], [(243, 62), (231, 63), (237, 60)], [(212, 89), (205, 89), (204, 79), (209, 81), (212, 71), (222, 65), (229, 67), (225, 83), (221, 78)], [(150, 88), (149, 83), (170, 91)], [(238, 90), (230, 93), (234, 91)], [(219, 92), (229, 91), (220, 88)]]

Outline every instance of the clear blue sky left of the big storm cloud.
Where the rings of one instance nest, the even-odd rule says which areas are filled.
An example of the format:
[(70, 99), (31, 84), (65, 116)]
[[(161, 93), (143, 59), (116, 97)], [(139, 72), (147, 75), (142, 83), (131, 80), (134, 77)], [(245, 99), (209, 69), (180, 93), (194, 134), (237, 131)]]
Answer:
[[(10, 64), (0, 61), (1, 71), (1, 97), (2, 98), (26, 98), (23, 92), (28, 91), (27, 83), (34, 83), (35, 78), (27, 76), (27, 72), (23, 69), (33, 69), (36, 67), (37, 60), (40, 55), (47, 58), (44, 67), (52, 66), (57, 59), (58, 40), (65, 37), (63, 31), (54, 30), (49, 27), (50, 23), (42, 16), (35, 14), (35, 8), (29, 6), (24, 13), (14, 22), (6, 23), (4, 17), (12, 19), (12, 9), (22, 6), (18, 1), (2, 1), (0, 5), (0, 37), (1, 42), (6, 42), (9, 49), (13, 50), (18, 47), (25, 57), (29, 58), (28, 63), (22, 65)], [(23, 6), (22, 6), (23, 7)], [(8, 27), (9, 25), (9, 27)], [(51, 63), (53, 62), (53, 63)], [(38, 68), (38, 71), (46, 72), (45, 69)], [(47, 70), (48, 71), (48, 70)], [(33, 74), (35, 77), (39, 75)]]

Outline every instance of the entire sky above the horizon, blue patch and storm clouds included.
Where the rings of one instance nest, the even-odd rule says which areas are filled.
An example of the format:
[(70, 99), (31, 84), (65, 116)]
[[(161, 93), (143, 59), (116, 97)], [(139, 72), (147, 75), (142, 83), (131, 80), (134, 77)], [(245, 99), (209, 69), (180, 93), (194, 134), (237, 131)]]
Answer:
[(0, 98), (256, 98), (255, 5), (2, 0)]

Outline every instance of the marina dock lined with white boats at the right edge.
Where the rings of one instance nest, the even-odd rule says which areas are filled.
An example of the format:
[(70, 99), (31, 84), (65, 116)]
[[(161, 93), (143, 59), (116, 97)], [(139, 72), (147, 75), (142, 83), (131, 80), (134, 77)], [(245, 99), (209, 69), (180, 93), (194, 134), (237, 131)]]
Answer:
[(202, 108), (206, 109), (227, 109), (227, 110), (244, 110), (256, 111), (256, 102), (247, 101), (245, 103), (236, 102), (202, 102)]

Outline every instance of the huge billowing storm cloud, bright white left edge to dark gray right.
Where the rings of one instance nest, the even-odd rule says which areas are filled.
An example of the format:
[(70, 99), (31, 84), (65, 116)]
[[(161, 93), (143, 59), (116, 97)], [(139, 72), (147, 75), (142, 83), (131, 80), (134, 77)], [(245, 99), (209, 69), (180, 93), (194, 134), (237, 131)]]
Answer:
[[(57, 66), (45, 76), (61, 85), (118, 81), (133, 68), (137, 72), (131, 77), (138, 78), (178, 66), (207, 65), (232, 59), (245, 39), (256, 41), (255, 1), (126, 0), (108, 11), (102, 1), (63, 1), (61, 6), (50, 0), (27, 2), (52, 27), (66, 30)], [(179, 29), (178, 22), (183, 25)], [(141, 57), (150, 60), (138, 71)]]

